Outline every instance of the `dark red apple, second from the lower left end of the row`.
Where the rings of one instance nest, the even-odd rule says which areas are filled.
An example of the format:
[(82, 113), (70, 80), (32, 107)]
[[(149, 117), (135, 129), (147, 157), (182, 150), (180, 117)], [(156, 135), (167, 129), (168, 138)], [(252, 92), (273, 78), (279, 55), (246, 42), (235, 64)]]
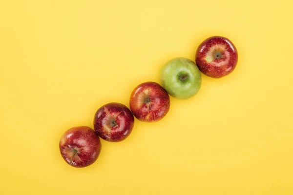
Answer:
[(94, 130), (106, 141), (118, 142), (126, 139), (133, 126), (134, 117), (131, 111), (121, 103), (107, 103), (94, 116)]

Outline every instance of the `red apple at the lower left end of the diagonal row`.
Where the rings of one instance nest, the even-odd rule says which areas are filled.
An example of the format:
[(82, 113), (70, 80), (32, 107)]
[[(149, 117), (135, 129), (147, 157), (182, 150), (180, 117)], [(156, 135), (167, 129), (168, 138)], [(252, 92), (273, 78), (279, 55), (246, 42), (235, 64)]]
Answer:
[(73, 167), (86, 167), (94, 163), (101, 152), (101, 141), (87, 126), (77, 126), (63, 133), (59, 149), (63, 159)]

